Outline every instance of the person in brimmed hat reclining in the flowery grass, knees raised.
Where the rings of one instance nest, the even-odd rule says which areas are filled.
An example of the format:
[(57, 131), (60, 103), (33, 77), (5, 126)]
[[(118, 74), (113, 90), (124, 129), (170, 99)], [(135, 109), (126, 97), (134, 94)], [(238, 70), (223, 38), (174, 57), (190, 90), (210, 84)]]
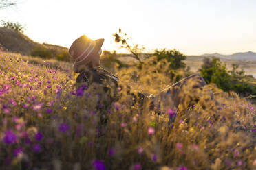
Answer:
[[(106, 101), (106, 105), (109, 106), (111, 102), (116, 101), (118, 77), (100, 67), (100, 54), (103, 42), (104, 39), (92, 40), (83, 35), (72, 43), (69, 53), (74, 59), (74, 72), (79, 73), (76, 78), (76, 88), (81, 88), (82, 84), (84, 87), (88, 87), (95, 83), (98, 84), (98, 86), (103, 86), (103, 93), (112, 94), (110, 99)], [(131, 93), (131, 95), (133, 95), (135, 99), (133, 102), (138, 101), (141, 105), (145, 99), (151, 101), (151, 110), (156, 108), (159, 110), (160, 103), (163, 105), (161, 106), (161, 110), (165, 110), (166, 108), (164, 107), (170, 106), (173, 109), (178, 109), (180, 104), (185, 104), (186, 107), (195, 104), (199, 100), (200, 93), (205, 85), (206, 82), (201, 75), (195, 74), (162, 90), (156, 96), (148, 93), (138, 93), (136, 95)], [(188, 89), (190, 89), (189, 91), (191, 93), (187, 92)], [(211, 93), (211, 91), (209, 91), (209, 93)], [(212, 97), (213, 95), (211, 93), (211, 98)]]

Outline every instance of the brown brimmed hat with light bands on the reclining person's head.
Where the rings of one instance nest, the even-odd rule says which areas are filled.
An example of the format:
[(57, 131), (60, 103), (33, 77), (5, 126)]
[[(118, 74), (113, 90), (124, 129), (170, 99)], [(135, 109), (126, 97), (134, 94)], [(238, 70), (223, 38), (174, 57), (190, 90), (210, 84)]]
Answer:
[(81, 67), (92, 61), (94, 56), (100, 51), (104, 39), (92, 40), (83, 35), (77, 38), (70, 46), (69, 53), (74, 59), (73, 69), (76, 73), (81, 71)]

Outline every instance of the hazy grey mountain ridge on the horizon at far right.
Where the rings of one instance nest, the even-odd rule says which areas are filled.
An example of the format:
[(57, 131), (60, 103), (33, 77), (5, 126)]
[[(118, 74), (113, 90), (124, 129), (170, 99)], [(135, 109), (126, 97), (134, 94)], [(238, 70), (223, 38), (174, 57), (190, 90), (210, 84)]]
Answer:
[(256, 60), (256, 53), (248, 51), (245, 53), (233, 53), (231, 55), (223, 55), (220, 53), (205, 53), (201, 55), (203, 57), (215, 56), (217, 58), (223, 58), (227, 60)]

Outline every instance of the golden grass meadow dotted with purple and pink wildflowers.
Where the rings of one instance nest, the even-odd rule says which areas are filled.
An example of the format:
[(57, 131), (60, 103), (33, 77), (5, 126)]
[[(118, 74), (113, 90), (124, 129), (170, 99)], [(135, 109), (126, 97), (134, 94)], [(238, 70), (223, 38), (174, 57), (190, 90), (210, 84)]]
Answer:
[[(111, 68), (124, 88), (157, 95), (175, 78), (155, 60)], [(198, 104), (157, 114), (118, 89), (105, 109), (99, 89), (76, 90), (76, 77), (71, 63), (0, 53), (0, 169), (256, 169), (250, 100), (209, 84), (214, 100), (202, 91)]]

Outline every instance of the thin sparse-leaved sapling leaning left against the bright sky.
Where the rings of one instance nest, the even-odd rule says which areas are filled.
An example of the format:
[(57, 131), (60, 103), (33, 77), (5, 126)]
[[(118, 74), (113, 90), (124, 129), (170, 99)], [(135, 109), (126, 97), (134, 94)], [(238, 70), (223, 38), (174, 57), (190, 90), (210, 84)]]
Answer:
[(145, 47), (138, 47), (138, 44), (136, 45), (131, 45), (127, 42), (127, 40), (131, 39), (130, 37), (127, 37), (126, 33), (123, 33), (122, 30), (119, 28), (118, 33), (113, 34), (115, 37), (115, 42), (120, 43), (121, 48), (127, 49), (131, 53), (131, 57), (135, 58), (142, 64), (142, 51), (145, 50)]

